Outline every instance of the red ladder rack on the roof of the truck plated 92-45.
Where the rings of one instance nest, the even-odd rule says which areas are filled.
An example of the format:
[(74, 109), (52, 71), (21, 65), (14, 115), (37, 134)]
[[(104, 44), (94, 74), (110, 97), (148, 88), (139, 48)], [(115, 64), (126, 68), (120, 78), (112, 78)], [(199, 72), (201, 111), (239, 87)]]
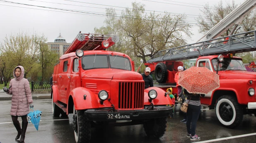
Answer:
[(108, 41), (110, 47), (117, 43), (119, 38), (116, 35), (90, 34), (81, 33), (81, 31), (79, 31), (75, 40), (71, 43), (64, 54), (75, 52), (77, 49), (82, 49), (84, 51), (104, 50), (106, 48), (101, 45), (103, 41)]

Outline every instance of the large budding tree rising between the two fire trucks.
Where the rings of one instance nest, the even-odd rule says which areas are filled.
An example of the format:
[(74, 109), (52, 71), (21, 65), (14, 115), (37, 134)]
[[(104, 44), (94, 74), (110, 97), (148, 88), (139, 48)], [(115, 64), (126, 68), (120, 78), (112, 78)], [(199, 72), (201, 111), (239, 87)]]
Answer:
[[(116, 17), (114, 9), (107, 9), (106, 26), (95, 31), (105, 31), (121, 35), (120, 52), (126, 53), (140, 64), (144, 63), (159, 50), (184, 45), (186, 39), (191, 38), (191, 26), (186, 22), (185, 15), (171, 15), (170, 13), (146, 14), (144, 5), (133, 2), (133, 8), (126, 8), (120, 17)], [(108, 13), (109, 12), (109, 13)], [(138, 58), (138, 59), (137, 59)]]

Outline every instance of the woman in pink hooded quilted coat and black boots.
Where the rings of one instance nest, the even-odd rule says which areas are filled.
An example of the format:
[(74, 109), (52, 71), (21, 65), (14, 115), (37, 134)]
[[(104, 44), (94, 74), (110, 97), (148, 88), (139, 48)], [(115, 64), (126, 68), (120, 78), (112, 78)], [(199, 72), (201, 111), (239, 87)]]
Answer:
[[(27, 130), (28, 120), (27, 114), (29, 113), (29, 107), (33, 108), (33, 100), (31, 96), (31, 90), (29, 86), (29, 81), (24, 78), (24, 68), (23, 66), (17, 66), (13, 70), (13, 79), (10, 81), (9, 89), (4, 87), (3, 90), (12, 95), (12, 106), (11, 113), (12, 122), (14, 127), (18, 131), (18, 135), (15, 140), (19, 139), (20, 142), (24, 142), (25, 133)], [(22, 118), (22, 128), (20, 127), (18, 117)]]

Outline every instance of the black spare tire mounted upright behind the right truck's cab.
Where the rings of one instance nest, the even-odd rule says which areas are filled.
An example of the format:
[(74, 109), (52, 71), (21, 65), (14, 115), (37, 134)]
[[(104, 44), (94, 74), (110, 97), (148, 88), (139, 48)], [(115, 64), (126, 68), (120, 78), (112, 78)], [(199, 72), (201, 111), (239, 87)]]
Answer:
[(164, 63), (157, 63), (155, 68), (155, 78), (157, 82), (164, 83), (167, 80), (167, 67)]

